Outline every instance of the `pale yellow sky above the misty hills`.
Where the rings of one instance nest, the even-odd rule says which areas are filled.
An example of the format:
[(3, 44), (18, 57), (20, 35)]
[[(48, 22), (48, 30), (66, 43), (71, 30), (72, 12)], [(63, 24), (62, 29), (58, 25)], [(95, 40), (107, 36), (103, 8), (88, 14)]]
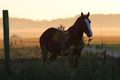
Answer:
[(74, 17), (81, 12), (91, 14), (118, 14), (120, 0), (0, 0), (2, 10), (9, 16), (33, 20), (52, 20)]

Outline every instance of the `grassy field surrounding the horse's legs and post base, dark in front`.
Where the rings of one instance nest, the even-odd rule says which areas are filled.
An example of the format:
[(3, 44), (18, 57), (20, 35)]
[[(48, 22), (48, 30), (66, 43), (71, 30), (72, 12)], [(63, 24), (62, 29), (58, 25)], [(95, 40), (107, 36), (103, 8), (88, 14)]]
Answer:
[[(120, 44), (92, 44), (92, 48), (106, 48), (106, 52), (120, 54)], [(87, 48), (87, 47), (86, 47)], [(89, 47), (88, 47), (89, 48)], [(40, 47), (11, 47), (11, 74), (7, 75), (3, 65), (3, 49), (0, 49), (0, 80), (119, 80), (120, 58), (83, 51), (75, 69), (69, 67), (68, 56), (59, 57), (56, 61), (43, 65), (41, 63)]]

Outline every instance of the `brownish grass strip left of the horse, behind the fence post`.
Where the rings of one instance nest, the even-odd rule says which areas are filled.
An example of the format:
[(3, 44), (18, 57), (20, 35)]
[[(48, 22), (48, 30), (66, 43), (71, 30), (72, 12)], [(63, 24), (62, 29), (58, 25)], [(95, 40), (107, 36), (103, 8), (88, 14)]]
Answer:
[[(39, 58), (40, 57), (40, 48), (38, 46), (31, 47), (12, 47), (10, 48), (10, 58)], [(0, 59), (4, 56), (4, 50), (0, 49)]]

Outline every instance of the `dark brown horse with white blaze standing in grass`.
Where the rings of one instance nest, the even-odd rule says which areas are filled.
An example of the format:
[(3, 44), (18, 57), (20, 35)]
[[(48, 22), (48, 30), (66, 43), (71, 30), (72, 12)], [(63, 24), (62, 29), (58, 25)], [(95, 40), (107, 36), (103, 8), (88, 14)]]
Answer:
[(80, 56), (83, 48), (83, 46), (81, 46), (83, 42), (83, 33), (88, 37), (92, 37), (93, 35), (89, 15), (89, 12), (87, 15), (81, 12), (81, 16), (79, 16), (75, 23), (67, 30), (51, 27), (43, 32), (39, 38), (42, 61), (45, 62), (48, 59), (48, 53), (51, 53), (51, 60), (55, 60), (56, 57), (62, 53), (67, 55), (70, 54), (70, 63), (74, 65), (77, 64), (76, 60)]

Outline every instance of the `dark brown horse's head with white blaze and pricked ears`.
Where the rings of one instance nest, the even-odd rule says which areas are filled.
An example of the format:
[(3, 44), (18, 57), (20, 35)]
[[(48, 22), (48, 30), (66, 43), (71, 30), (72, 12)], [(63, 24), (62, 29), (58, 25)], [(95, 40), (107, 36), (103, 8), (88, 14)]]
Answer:
[(77, 26), (80, 26), (79, 28), (82, 30), (82, 32), (85, 32), (88, 37), (92, 37), (92, 30), (89, 20), (90, 13), (88, 12), (87, 15), (84, 15), (83, 12), (81, 13), (81, 16), (77, 19), (76, 24)]

